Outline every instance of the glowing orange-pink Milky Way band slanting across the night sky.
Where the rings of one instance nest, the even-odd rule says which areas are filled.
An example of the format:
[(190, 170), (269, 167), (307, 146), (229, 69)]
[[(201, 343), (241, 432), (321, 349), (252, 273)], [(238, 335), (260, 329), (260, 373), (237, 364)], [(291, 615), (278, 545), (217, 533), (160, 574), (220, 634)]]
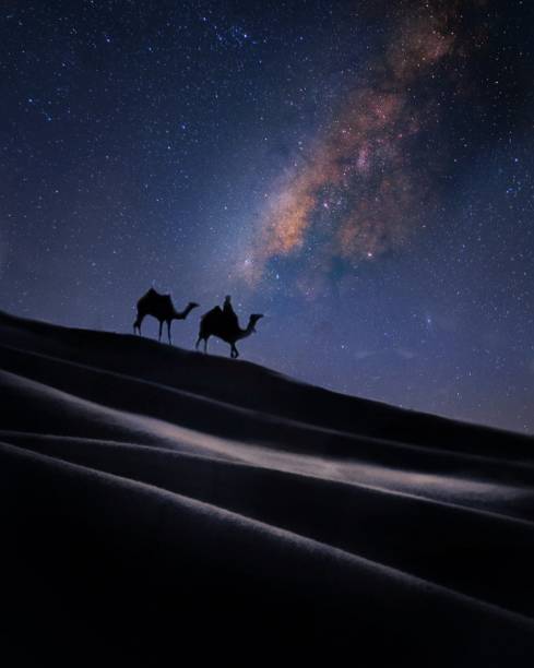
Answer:
[[(249, 282), (270, 259), (298, 254), (308, 242), (311, 271), (328, 273), (333, 260), (351, 266), (402, 247), (425, 225), (446, 168), (443, 146), (432, 155), (419, 141), (440, 120), (436, 79), (484, 44), (482, 29), (468, 39), (456, 34), (465, 4), (406, 3), (395, 14), (383, 52), (272, 193), (241, 265)], [(446, 60), (449, 72), (440, 70)]]

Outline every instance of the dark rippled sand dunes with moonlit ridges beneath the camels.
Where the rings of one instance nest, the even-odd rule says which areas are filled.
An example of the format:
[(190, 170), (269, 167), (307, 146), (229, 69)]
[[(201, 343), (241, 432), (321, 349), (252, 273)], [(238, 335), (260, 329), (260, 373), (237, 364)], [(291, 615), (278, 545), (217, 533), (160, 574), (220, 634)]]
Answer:
[(0, 313), (7, 666), (534, 666), (534, 440)]

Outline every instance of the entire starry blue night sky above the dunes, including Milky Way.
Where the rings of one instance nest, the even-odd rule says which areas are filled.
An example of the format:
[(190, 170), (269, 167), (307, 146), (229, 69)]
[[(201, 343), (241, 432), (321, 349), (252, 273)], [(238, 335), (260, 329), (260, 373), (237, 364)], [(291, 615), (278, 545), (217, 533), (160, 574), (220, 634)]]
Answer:
[[(4, 0), (0, 309), (534, 432), (534, 7)], [(144, 332), (156, 335), (154, 321)], [(225, 344), (212, 351), (227, 355)]]

